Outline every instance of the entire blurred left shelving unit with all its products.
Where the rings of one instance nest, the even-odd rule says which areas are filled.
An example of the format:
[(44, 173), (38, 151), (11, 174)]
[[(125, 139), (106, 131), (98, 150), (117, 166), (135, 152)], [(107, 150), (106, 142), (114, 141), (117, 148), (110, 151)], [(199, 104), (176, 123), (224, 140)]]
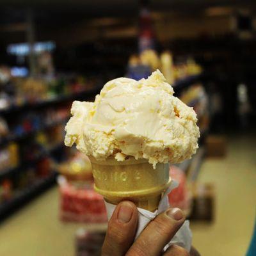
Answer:
[(63, 144), (71, 103), (92, 100), (98, 84), (81, 77), (0, 84), (0, 218), (55, 183), (58, 163), (72, 154)]

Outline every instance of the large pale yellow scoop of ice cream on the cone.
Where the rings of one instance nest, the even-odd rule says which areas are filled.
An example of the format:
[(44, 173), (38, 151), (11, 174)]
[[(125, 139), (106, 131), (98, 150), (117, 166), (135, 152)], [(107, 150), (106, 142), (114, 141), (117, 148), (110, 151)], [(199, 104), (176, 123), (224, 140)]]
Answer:
[(73, 102), (65, 145), (97, 160), (132, 156), (149, 163), (179, 163), (198, 148), (196, 113), (173, 96), (157, 70), (148, 79), (117, 78), (95, 102)]

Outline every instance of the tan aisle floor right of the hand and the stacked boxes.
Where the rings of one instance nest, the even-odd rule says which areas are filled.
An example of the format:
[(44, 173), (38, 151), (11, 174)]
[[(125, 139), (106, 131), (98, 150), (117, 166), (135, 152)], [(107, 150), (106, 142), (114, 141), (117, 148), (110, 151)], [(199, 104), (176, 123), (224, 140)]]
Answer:
[(212, 224), (192, 223), (193, 244), (202, 256), (245, 255), (256, 217), (256, 138), (228, 140), (223, 159), (207, 159), (199, 182), (214, 183), (216, 214)]

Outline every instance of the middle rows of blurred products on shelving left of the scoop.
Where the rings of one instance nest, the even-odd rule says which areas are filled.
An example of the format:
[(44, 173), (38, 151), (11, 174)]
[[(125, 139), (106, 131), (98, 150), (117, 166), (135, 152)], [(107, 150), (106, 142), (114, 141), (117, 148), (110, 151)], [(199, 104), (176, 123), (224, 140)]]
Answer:
[[(0, 178), (19, 166), (29, 166), (63, 146), (68, 106), (6, 118), (0, 150)], [(1, 120), (2, 124), (4, 120)], [(3, 132), (3, 131), (2, 131)]]

